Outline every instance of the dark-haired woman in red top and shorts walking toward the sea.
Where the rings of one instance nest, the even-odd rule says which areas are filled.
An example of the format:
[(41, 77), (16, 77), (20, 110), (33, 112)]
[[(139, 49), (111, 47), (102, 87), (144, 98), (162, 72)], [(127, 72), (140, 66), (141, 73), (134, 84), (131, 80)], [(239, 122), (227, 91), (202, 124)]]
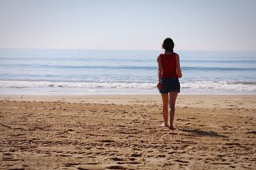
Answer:
[[(157, 57), (157, 88), (159, 89), (163, 100), (163, 125), (169, 127), (171, 130), (175, 130), (175, 127), (173, 126), (175, 102), (180, 92), (179, 78), (182, 77), (180, 59), (179, 55), (173, 52), (174, 43), (171, 38), (164, 39), (162, 47), (164, 53), (161, 53)], [(168, 104), (170, 106), (169, 115)]]

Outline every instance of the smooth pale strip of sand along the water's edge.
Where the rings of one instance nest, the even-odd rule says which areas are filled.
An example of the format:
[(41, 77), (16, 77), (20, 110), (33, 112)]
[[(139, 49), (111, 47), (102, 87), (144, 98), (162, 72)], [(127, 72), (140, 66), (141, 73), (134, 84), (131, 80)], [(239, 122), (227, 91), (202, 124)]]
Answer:
[[(36, 101), (95, 104), (157, 104), (161, 106), (160, 94), (115, 95), (1, 95), (1, 101)], [(192, 108), (250, 108), (256, 109), (256, 95), (182, 95), (176, 106)]]

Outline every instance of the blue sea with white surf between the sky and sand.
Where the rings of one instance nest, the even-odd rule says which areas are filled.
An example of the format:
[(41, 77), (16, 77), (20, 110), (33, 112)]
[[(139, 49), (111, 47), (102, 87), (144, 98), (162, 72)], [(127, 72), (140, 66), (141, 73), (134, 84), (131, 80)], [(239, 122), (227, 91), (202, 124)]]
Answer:
[[(158, 94), (159, 53), (0, 48), (0, 95)], [(256, 94), (256, 52), (177, 53), (180, 94)]]

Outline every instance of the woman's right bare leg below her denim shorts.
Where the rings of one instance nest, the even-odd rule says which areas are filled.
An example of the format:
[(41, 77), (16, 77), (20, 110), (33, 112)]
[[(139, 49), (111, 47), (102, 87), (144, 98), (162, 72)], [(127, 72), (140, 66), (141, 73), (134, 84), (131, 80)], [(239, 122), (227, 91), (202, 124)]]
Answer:
[(173, 126), (173, 120), (174, 120), (174, 115), (175, 115), (175, 102), (178, 96), (178, 92), (170, 92), (170, 101), (169, 101), (169, 106), (170, 106), (170, 113), (169, 113), (169, 128), (171, 130), (175, 130), (175, 127)]

